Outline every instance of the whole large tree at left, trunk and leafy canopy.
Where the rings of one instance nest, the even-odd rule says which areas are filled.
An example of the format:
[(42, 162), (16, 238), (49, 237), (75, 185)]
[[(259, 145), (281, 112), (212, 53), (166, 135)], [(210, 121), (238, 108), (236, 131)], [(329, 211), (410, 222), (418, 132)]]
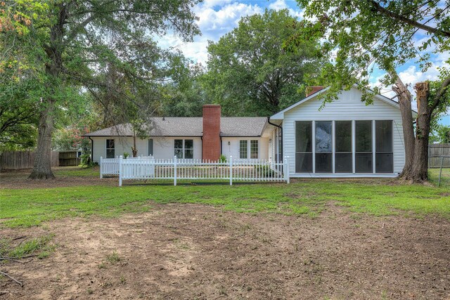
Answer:
[(30, 178), (53, 178), (51, 133), (56, 107), (84, 89), (117, 87), (102, 82), (99, 70), (115, 65), (133, 81), (155, 79), (160, 50), (153, 35), (175, 32), (188, 41), (198, 34), (195, 0), (6, 0), (0, 10), (0, 68), (14, 69), (44, 86), (34, 169)]

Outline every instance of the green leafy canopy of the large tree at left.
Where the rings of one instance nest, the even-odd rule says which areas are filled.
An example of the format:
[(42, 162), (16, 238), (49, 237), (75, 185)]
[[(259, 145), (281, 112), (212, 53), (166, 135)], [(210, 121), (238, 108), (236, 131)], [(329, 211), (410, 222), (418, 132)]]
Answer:
[[(160, 99), (156, 91), (167, 80), (167, 60), (176, 56), (160, 49), (153, 39), (173, 32), (191, 41), (199, 33), (191, 11), (196, 3), (1, 1), (0, 95), (6, 91), (0, 96), (2, 110), (10, 101), (39, 117), (39, 122), (34, 120), (38, 130), (51, 133), (55, 120), (67, 124), (68, 115), (84, 113), (91, 96), (105, 107), (105, 120), (126, 119), (141, 130), (146, 112)], [(6, 108), (10, 115), (18, 114), (14, 107)], [(38, 135), (42, 142), (38, 150), (51, 148), (47, 136)], [(49, 162), (49, 157), (41, 157)], [(49, 172), (43, 171), (44, 162), (37, 165)]]

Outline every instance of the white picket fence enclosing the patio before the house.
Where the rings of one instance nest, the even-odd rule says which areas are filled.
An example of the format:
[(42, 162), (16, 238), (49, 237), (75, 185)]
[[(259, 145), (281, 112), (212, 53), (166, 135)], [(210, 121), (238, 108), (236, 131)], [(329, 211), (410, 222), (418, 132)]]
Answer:
[[(100, 157), (100, 178), (119, 176), (119, 186), (127, 179), (177, 180), (227, 180), (233, 181), (278, 181), (289, 183), (289, 157), (283, 162), (266, 159), (230, 159), (227, 162), (200, 159), (155, 159), (133, 157), (124, 159)], [(286, 171), (284, 171), (286, 170)]]

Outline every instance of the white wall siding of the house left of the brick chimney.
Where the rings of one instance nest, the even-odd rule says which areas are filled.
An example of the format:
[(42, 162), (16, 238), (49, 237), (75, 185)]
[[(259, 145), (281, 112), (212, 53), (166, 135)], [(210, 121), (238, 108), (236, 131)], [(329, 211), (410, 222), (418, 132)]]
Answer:
[[(115, 155), (124, 155), (124, 152), (128, 152), (131, 156), (131, 146), (133, 145), (133, 138), (129, 137), (92, 137), (94, 141), (94, 162), (98, 162), (100, 157), (106, 157), (106, 140), (108, 138), (115, 139)], [(202, 158), (202, 141), (200, 137), (150, 137), (153, 139), (153, 156), (157, 159), (171, 159), (174, 157), (174, 143), (176, 139), (193, 140), (194, 143), (194, 159)], [(148, 139), (137, 139), (136, 148), (138, 149), (138, 155), (148, 155)]]

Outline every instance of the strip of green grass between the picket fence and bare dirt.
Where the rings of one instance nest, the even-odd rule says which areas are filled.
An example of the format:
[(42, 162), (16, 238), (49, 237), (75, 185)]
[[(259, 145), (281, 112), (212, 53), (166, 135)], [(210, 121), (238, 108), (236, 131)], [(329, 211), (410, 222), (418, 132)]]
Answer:
[[(68, 169), (57, 176), (97, 176), (93, 169)], [(37, 226), (68, 216), (119, 216), (149, 211), (153, 203), (201, 203), (250, 213), (317, 216), (330, 202), (354, 213), (376, 216), (436, 214), (450, 219), (450, 169), (443, 171), (441, 188), (407, 185), (392, 180), (336, 181), (311, 179), (284, 184), (212, 183), (191, 185), (181, 181), (67, 188), (0, 190), (2, 226)], [(432, 170), (432, 183), (437, 182)]]

